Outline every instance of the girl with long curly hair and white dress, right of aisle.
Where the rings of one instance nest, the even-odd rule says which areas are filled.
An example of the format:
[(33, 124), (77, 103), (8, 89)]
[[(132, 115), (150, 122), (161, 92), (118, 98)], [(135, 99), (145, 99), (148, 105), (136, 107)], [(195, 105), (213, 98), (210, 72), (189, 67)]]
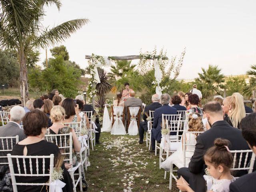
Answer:
[[(188, 131), (191, 132), (197, 132), (197, 131), (204, 131), (202, 118), (200, 117), (199, 113), (196, 114), (190, 114), (188, 116)], [(188, 134), (186, 133), (186, 144), (196, 144), (196, 134)], [(182, 141), (183, 141), (184, 135), (182, 135)], [(186, 152), (186, 167), (188, 167), (188, 164), (190, 162), (190, 158), (194, 154), (195, 146), (188, 145), (186, 150), (189, 150), (190, 152)], [(180, 142), (180, 146), (176, 152), (174, 152), (172, 155), (170, 155), (164, 162), (161, 164), (161, 168), (163, 168), (166, 171), (170, 171), (170, 166), (172, 164), (175, 164), (178, 168), (181, 168), (184, 166), (184, 158), (183, 158), (183, 152), (182, 152), (182, 142)]]

